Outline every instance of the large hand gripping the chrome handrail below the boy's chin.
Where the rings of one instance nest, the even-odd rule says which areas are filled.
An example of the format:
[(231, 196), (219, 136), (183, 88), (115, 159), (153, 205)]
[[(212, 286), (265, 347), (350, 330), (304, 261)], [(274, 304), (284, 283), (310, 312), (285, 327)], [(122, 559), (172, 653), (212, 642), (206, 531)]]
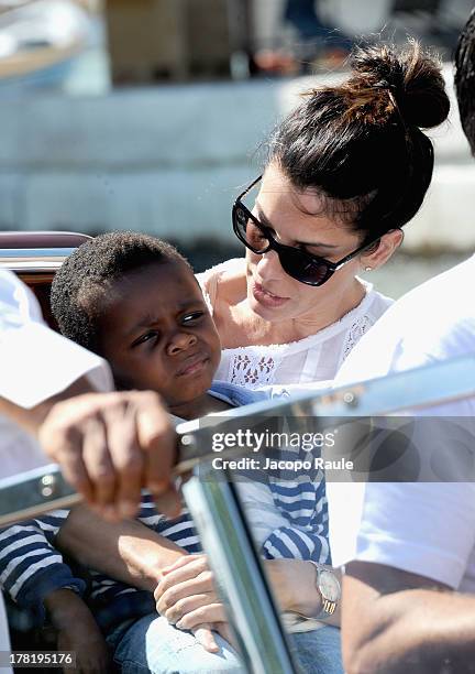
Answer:
[(133, 517), (141, 488), (161, 512), (174, 515), (170, 481), (175, 430), (152, 391), (86, 393), (53, 406), (38, 439), (88, 504), (108, 519)]

